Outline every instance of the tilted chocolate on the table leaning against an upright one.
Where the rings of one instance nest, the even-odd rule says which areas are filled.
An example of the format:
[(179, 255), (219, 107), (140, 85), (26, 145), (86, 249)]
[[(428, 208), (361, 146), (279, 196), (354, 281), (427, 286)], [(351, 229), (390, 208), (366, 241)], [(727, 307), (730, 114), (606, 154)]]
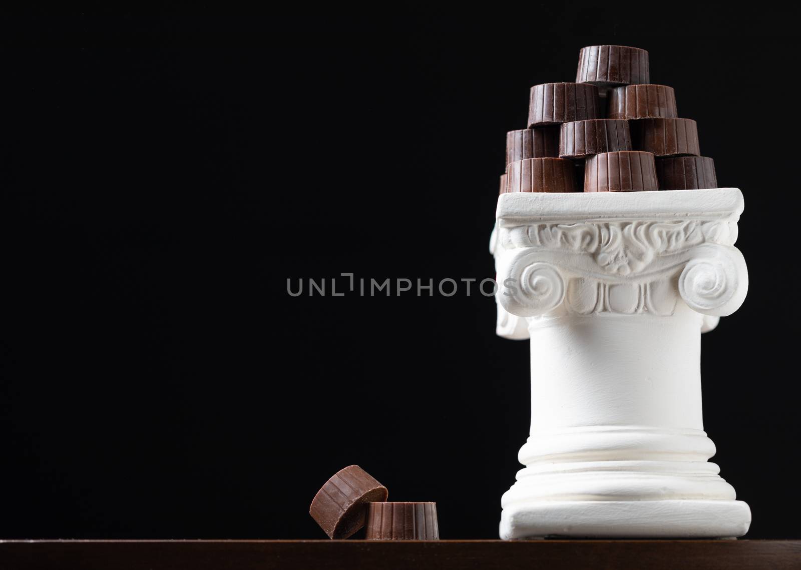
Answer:
[(387, 500), (387, 488), (358, 465), (346, 467), (317, 492), (308, 514), (328, 538), (348, 538), (364, 526), (367, 504)]

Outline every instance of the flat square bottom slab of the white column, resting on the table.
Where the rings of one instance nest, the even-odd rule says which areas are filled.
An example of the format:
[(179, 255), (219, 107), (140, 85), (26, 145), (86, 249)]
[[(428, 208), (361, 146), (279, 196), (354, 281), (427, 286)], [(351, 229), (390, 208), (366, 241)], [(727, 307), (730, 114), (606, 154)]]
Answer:
[(735, 538), (748, 532), (741, 500), (537, 501), (501, 513), (501, 539)]

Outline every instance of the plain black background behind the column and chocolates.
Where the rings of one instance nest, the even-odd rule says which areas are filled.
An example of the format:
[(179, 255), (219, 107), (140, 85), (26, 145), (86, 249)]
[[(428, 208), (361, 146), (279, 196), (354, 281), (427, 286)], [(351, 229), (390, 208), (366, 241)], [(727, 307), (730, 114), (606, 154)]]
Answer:
[(308, 504), (355, 463), (444, 538), (497, 537), (529, 349), (493, 299), (287, 279), (492, 277), (505, 131), (615, 43), (746, 196), (705, 426), (749, 536), (798, 537), (790, 15), (594, 6), (7, 18), (0, 536), (323, 538)]

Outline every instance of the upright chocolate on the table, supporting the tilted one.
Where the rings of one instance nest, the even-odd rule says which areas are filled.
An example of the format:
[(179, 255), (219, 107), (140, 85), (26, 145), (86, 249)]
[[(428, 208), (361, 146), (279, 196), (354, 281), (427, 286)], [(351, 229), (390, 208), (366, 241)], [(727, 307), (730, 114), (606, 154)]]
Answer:
[(436, 503), (370, 503), (367, 540), (440, 540)]

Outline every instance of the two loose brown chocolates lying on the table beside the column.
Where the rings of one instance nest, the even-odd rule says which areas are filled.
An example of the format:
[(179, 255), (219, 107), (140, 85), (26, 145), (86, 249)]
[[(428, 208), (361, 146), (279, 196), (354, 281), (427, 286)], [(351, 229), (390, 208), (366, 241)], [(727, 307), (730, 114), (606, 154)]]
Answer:
[(436, 503), (388, 503), (387, 488), (358, 465), (336, 472), (317, 492), (309, 514), (328, 538), (439, 540)]

